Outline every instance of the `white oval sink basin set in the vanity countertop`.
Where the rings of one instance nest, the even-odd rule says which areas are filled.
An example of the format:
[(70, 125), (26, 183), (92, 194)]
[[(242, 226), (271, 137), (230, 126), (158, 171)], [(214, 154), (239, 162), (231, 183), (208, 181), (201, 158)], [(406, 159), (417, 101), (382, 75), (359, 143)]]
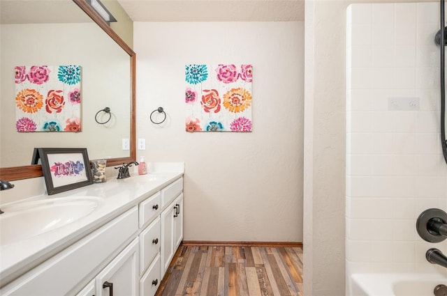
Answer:
[(101, 201), (93, 196), (70, 196), (5, 205), (1, 207), (0, 244), (26, 240), (71, 224), (94, 212)]

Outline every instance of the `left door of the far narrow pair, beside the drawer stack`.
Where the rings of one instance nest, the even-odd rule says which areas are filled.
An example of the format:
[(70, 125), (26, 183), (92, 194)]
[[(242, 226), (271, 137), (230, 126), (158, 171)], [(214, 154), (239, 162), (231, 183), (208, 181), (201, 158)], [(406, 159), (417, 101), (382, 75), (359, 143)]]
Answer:
[(161, 213), (161, 279), (174, 256), (174, 203)]

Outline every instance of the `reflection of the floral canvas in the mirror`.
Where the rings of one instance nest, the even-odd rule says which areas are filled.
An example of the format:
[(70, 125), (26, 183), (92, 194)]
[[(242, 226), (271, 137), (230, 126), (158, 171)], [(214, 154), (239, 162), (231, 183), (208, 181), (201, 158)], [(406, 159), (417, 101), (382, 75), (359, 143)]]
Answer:
[(17, 132), (80, 132), (80, 89), (80, 65), (15, 66)]

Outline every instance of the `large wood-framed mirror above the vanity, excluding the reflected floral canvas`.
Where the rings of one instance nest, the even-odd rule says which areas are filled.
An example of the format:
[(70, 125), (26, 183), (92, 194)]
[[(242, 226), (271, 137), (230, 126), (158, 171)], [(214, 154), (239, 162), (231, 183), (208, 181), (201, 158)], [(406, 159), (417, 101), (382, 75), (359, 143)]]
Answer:
[[(0, 178), (43, 176), (41, 165), (29, 165), (34, 147), (87, 148), (89, 159), (107, 159), (108, 166), (135, 161), (135, 52), (85, 0), (0, 1)], [(21, 17), (34, 19), (28, 24), (23, 20), (17, 20), (20, 24), (3, 24), (4, 15), (14, 13), (13, 5), (3, 4), (14, 2), (20, 2), (28, 12)], [(58, 17), (53, 20), (41, 16), (45, 20), (36, 20), (37, 10)], [(22, 56), (18, 56), (20, 53)], [(82, 132), (15, 130), (14, 67), (36, 64), (81, 66)], [(95, 115), (105, 107), (110, 108), (111, 120), (100, 125)], [(107, 120), (108, 114), (103, 113), (98, 114), (100, 122)], [(123, 149), (123, 139), (129, 139), (129, 148)]]

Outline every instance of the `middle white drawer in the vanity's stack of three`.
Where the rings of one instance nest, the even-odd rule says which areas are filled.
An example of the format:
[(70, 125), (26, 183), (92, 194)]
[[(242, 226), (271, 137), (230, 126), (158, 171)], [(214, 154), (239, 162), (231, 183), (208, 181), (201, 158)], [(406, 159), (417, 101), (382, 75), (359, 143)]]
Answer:
[(140, 234), (140, 274), (146, 270), (147, 265), (159, 254), (160, 244), (160, 217), (156, 217)]

